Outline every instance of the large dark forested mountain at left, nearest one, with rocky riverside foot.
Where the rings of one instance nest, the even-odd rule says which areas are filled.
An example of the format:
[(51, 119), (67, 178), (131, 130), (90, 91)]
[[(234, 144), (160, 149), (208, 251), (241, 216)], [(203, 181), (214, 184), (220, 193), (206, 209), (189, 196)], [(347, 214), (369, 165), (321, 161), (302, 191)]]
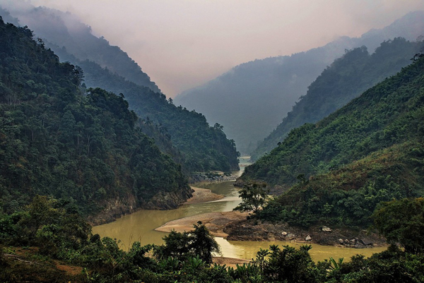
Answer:
[(0, 206), (54, 195), (86, 215), (177, 207), (191, 189), (179, 164), (135, 126), (122, 95), (81, 88), (27, 28), (0, 21)]

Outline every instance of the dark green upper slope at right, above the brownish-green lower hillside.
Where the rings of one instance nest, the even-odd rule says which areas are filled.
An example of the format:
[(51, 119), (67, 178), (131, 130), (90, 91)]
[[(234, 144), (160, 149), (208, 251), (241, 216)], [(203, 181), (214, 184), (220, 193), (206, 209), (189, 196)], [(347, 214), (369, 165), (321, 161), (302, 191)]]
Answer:
[(423, 121), (424, 58), (420, 58), (317, 124), (290, 131), (237, 182), (260, 180), (286, 190), (297, 178), (309, 179), (391, 145), (421, 140)]

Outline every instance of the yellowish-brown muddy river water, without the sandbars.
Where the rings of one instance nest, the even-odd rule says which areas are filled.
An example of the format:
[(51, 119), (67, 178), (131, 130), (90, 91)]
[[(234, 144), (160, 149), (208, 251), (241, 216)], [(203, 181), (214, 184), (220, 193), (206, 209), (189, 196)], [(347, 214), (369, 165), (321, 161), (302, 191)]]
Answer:
[[(248, 164), (246, 158), (240, 158), (240, 171), (233, 174), (240, 175)], [(139, 241), (141, 245), (155, 243), (160, 245), (163, 243), (165, 232), (155, 231), (155, 228), (160, 227), (166, 222), (170, 222), (182, 217), (200, 215), (206, 212), (224, 212), (231, 211), (240, 203), (238, 198), (237, 188), (232, 186), (234, 181), (225, 181), (222, 183), (211, 183), (206, 185), (196, 185), (201, 188), (209, 188), (213, 193), (225, 195), (225, 198), (208, 203), (196, 203), (190, 205), (182, 205), (176, 210), (139, 210), (131, 215), (124, 215), (114, 222), (102, 224), (93, 227), (93, 234), (100, 236), (109, 236), (112, 239), (120, 241), (120, 247), (127, 251), (134, 241)], [(223, 238), (216, 238), (219, 243), (222, 255), (228, 258), (244, 258), (250, 260), (255, 257), (259, 248), (269, 248), (269, 245), (290, 245), (299, 247), (302, 243), (291, 242), (260, 242), (260, 241), (227, 241)], [(352, 255), (358, 253), (365, 256), (370, 256), (372, 253), (379, 253), (386, 248), (339, 248), (335, 246), (320, 246), (312, 244), (310, 255), (313, 260), (324, 260), (329, 257), (345, 258), (348, 260)]]

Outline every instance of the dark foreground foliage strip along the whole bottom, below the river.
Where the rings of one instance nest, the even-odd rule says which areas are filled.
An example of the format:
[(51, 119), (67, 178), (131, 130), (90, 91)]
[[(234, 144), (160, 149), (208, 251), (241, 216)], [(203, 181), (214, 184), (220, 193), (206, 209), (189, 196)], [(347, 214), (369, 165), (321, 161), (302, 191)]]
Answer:
[[(423, 282), (424, 245), (416, 237), (423, 232), (423, 204), (422, 198), (392, 201), (374, 216), (377, 229), (408, 251), (391, 246), (371, 258), (355, 255), (348, 263), (343, 258), (314, 263), (311, 246), (270, 246), (251, 263), (232, 268), (211, 264), (218, 245), (201, 223), (190, 232), (172, 232), (161, 246), (135, 242), (123, 251), (116, 240), (93, 235), (71, 203), (37, 195), (21, 212), (0, 213), (0, 281)], [(398, 214), (408, 221), (399, 225)], [(417, 228), (418, 233), (408, 233)]]

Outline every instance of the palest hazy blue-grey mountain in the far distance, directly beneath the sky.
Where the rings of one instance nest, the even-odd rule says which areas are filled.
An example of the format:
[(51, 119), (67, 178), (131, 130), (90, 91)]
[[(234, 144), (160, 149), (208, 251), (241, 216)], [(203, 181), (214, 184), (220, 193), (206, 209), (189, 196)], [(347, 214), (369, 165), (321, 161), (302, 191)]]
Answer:
[(307, 52), (241, 64), (178, 95), (175, 104), (196, 109), (208, 121), (223, 124), (238, 150), (249, 153), (281, 123), (307, 87), (345, 49), (366, 46), (373, 53), (384, 40), (416, 40), (420, 35), (424, 35), (424, 12), (409, 13), (386, 28), (371, 30), (359, 38), (341, 37)]

